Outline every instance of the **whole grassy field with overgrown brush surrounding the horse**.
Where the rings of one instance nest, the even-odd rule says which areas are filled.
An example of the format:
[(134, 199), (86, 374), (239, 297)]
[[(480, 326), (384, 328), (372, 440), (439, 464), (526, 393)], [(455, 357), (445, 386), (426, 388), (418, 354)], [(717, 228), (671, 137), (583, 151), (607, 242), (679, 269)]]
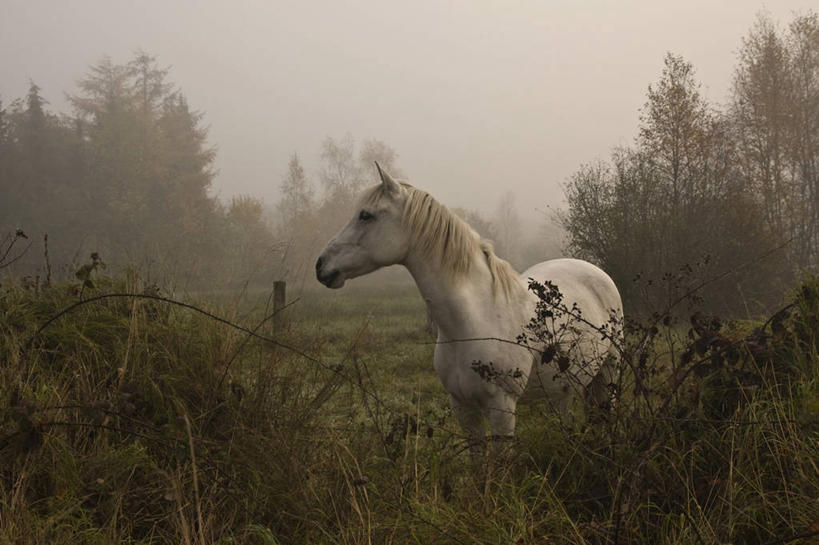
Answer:
[[(817, 539), (816, 281), (764, 354), (726, 328), (671, 392), (655, 370), (650, 396), (627, 382), (612, 413), (573, 426), (522, 407), (485, 479), (414, 286), (291, 289), (264, 323), (264, 292), (93, 299), (143, 288), (0, 291), (0, 543)], [(661, 337), (632, 354), (646, 377), (680, 360)]]

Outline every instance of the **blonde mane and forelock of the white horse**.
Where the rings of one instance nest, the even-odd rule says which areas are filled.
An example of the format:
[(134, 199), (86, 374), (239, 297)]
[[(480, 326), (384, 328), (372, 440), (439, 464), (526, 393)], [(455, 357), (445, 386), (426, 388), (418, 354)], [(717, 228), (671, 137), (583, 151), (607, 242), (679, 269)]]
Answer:
[[(472, 227), (429, 193), (400, 182), (407, 192), (404, 205), (404, 226), (412, 233), (412, 247), (421, 255), (440, 261), (445, 273), (452, 277), (466, 274), (472, 266), (472, 256), (480, 250), (492, 274), (492, 290), (508, 298), (518, 284), (518, 273), (505, 260), (495, 255), (492, 243), (481, 239)], [(379, 184), (362, 198), (364, 204), (376, 204), (384, 196)]]

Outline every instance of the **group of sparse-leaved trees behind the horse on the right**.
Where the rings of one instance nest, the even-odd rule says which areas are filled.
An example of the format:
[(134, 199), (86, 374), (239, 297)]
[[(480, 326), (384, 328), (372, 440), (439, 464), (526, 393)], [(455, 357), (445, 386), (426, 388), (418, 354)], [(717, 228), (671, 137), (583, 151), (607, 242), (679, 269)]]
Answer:
[(601, 265), (627, 305), (657, 308), (702, 285), (715, 307), (758, 312), (819, 266), (819, 19), (743, 39), (728, 104), (665, 57), (639, 132), (565, 186), (568, 251)]

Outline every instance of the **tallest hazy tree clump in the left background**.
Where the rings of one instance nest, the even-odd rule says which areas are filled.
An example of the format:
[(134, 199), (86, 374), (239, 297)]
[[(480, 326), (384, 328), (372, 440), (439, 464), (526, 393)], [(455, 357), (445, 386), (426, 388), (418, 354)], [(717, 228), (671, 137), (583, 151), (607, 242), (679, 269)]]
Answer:
[(215, 152), (202, 114), (167, 75), (141, 51), (125, 65), (104, 58), (70, 100), (88, 157), (86, 188), (97, 210), (89, 228), (99, 250), (111, 258), (161, 254), (176, 267), (214, 252), (202, 233), (216, 228), (219, 211), (208, 195)]

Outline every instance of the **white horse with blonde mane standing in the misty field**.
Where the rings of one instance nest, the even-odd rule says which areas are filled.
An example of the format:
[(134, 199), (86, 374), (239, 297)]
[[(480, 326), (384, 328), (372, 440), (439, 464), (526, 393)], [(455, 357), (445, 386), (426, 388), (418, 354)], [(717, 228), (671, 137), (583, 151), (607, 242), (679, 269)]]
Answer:
[[(438, 326), (435, 371), (471, 440), (484, 438), (486, 417), (493, 437), (514, 435), (515, 409), (527, 383), (537, 381), (565, 412), (575, 386), (588, 385), (600, 356), (612, 350), (611, 339), (595, 329), (622, 316), (611, 278), (576, 259), (546, 261), (519, 275), (428, 193), (376, 167), (381, 184), (364, 193), (353, 218), (322, 251), (318, 280), (340, 288), (348, 278), (388, 265), (409, 269)], [(529, 278), (552, 282), (563, 303), (582, 312), (560, 340), (571, 362), (566, 369), (567, 360), (560, 360), (563, 371), (557, 359), (541, 363), (540, 351), (516, 342), (535, 315)]]

